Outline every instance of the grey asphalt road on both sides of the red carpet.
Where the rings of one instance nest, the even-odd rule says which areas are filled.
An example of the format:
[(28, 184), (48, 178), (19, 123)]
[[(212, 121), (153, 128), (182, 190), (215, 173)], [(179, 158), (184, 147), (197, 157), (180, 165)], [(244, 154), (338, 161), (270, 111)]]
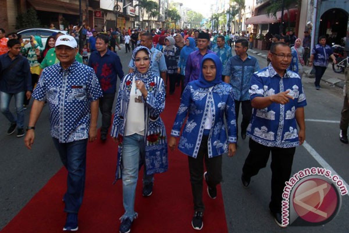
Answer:
[[(122, 47), (119, 56), (126, 73), (131, 54), (125, 54), (124, 47)], [(265, 59), (255, 57), (261, 67), (266, 66)], [(329, 120), (335, 123), (307, 121), (306, 141), (344, 181), (349, 182), (349, 170), (347, 169), (349, 145), (344, 145), (339, 141), (339, 123), (337, 123), (340, 120), (343, 103), (342, 90), (322, 83), (322, 89), (317, 91), (313, 82), (314, 79), (303, 79), (308, 103), (305, 107), (306, 119)], [(29, 110), (25, 112), (25, 125), (28, 123), (28, 118)], [(23, 138), (18, 139), (15, 135), (6, 135), (8, 122), (2, 114), (0, 115), (0, 229), (62, 167), (50, 137), (48, 118), (49, 109), (45, 107), (36, 126), (34, 147), (29, 151), (24, 147)], [(241, 116), (239, 119), (241, 120)], [(101, 120), (99, 119), (98, 122), (100, 123)], [(248, 139), (239, 140), (236, 155), (233, 158), (224, 156), (223, 159), (222, 190), (229, 232), (348, 232), (349, 223), (346, 218), (349, 216), (348, 195), (342, 196), (339, 214), (326, 225), (287, 227), (285, 229), (277, 226), (268, 210), (270, 161), (266, 168), (262, 169), (257, 176), (252, 177), (250, 186), (243, 188), (240, 176), (247, 154)], [(320, 167), (320, 165), (304, 146), (300, 146), (296, 150), (292, 174), (309, 167)]]

